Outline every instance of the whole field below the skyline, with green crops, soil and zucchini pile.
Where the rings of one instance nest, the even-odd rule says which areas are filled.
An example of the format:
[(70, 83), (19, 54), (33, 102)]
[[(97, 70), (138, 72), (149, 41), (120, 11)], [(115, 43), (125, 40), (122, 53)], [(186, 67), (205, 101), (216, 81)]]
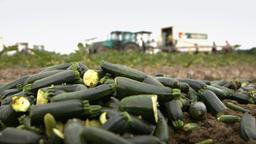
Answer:
[(256, 142), (251, 55), (79, 55), (0, 70), (0, 143)]

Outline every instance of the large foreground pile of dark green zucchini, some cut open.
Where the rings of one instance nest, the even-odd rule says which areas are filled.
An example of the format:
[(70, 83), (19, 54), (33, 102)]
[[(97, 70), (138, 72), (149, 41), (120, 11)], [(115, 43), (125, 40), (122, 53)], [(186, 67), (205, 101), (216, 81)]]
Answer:
[(197, 130), (207, 113), (241, 123), (241, 138), (255, 141), (255, 117), (223, 101), (255, 104), (255, 91), (250, 81), (153, 76), (109, 62), (55, 65), (0, 85), (0, 143), (167, 144), (170, 128)]

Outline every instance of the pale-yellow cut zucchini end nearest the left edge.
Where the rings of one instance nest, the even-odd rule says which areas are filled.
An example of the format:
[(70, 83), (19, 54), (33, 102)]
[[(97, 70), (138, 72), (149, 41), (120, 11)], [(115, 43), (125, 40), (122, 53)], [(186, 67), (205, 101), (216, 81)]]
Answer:
[(30, 107), (30, 102), (26, 97), (14, 96), (12, 97), (11, 106), (16, 112), (26, 112)]

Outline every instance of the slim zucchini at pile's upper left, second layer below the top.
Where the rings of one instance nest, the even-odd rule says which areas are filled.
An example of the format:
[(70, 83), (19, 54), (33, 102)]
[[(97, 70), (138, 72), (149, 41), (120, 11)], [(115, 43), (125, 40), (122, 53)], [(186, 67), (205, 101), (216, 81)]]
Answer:
[(33, 74), (24, 82), (24, 84), (31, 84), (36, 80), (54, 75), (54, 74), (59, 73), (59, 72), (63, 72), (63, 70), (45, 71), (45, 72)]

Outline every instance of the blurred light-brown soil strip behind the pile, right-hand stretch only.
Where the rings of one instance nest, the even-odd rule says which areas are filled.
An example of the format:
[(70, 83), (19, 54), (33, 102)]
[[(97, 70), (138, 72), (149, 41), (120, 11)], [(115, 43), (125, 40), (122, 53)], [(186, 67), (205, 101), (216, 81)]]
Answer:
[(239, 65), (239, 66), (226, 66), (226, 67), (203, 67), (203, 66), (190, 66), (190, 67), (159, 67), (151, 68), (144, 67), (138, 68), (150, 74), (167, 74), (173, 77), (192, 77), (193, 79), (205, 80), (256, 80), (256, 66), (255, 65)]

